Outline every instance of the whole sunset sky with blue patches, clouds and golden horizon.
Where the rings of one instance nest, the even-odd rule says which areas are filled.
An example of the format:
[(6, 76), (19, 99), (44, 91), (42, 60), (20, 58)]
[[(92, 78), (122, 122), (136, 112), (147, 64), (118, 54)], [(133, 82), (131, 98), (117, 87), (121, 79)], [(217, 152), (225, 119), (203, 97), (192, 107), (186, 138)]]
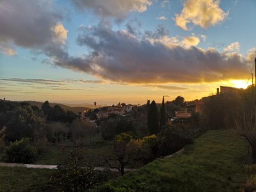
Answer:
[(246, 88), (255, 0), (0, 0), (0, 98), (190, 101)]

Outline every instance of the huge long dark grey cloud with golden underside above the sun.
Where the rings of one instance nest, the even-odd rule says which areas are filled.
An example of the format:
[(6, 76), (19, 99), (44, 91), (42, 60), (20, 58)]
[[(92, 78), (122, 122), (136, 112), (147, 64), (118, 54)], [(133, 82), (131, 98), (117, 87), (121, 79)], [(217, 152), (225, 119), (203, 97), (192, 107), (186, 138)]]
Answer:
[[(187, 39), (197, 44), (196, 38)], [(247, 78), (250, 71), (245, 58), (238, 53), (184, 47), (161, 28), (136, 36), (124, 30), (113, 31), (110, 25), (100, 23), (84, 28), (77, 43), (89, 48), (90, 54), (81, 58), (55, 57), (55, 65), (115, 82), (213, 82)]]

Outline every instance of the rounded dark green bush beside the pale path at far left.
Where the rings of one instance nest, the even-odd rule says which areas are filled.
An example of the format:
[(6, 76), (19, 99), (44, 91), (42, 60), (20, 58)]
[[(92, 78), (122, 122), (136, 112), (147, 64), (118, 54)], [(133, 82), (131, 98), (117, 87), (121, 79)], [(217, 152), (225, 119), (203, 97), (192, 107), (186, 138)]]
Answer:
[(31, 163), (36, 154), (36, 148), (30, 144), (30, 139), (26, 138), (7, 146), (3, 159), (9, 163)]

